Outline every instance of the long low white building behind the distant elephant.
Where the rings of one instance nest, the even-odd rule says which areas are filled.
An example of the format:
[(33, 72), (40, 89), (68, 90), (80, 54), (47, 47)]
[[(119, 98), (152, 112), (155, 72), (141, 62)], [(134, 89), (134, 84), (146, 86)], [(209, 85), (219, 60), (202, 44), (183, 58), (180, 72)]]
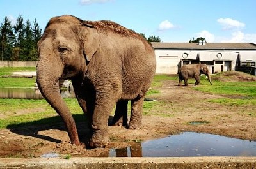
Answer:
[(207, 64), (211, 73), (256, 66), (254, 43), (152, 42), (152, 47), (156, 54), (156, 74), (177, 74), (183, 64), (195, 63)]

